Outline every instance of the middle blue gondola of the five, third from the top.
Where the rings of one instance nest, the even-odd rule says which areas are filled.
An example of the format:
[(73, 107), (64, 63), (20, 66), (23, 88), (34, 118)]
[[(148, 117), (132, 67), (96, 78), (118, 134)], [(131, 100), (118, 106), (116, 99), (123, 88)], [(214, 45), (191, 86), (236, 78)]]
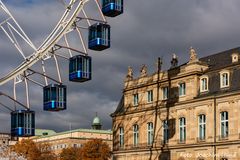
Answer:
[(69, 59), (69, 81), (84, 82), (92, 78), (92, 58), (77, 55)]

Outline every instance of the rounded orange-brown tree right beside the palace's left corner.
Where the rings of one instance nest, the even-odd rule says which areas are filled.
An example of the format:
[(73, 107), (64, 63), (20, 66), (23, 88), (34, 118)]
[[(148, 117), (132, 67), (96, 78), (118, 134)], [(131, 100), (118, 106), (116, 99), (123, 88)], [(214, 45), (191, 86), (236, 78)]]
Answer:
[(81, 156), (84, 160), (108, 160), (111, 158), (111, 149), (106, 142), (94, 139), (83, 146)]

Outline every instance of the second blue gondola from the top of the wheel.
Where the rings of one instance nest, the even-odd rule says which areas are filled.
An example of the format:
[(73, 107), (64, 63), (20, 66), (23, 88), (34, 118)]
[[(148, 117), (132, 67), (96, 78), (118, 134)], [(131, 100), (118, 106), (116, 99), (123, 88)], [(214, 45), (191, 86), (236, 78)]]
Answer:
[(88, 48), (101, 51), (110, 47), (110, 25), (96, 23), (89, 27)]

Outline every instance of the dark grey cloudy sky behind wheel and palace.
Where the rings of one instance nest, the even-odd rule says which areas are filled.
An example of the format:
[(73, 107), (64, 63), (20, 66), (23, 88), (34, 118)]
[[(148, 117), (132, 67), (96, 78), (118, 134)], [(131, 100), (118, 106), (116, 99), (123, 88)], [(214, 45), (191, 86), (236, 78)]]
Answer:
[[(90, 0), (92, 1), (92, 0)], [(61, 17), (60, 0), (2, 0), (36, 46), (39, 46)], [(94, 52), (93, 79), (86, 83), (68, 82), (68, 109), (46, 112), (42, 109), (42, 88), (30, 87), (31, 109), (36, 111), (36, 128), (56, 131), (91, 128), (96, 112), (103, 129), (111, 129), (113, 113), (121, 98), (128, 66), (134, 77), (143, 64), (148, 74), (156, 70), (157, 58), (163, 69), (170, 66), (175, 53), (179, 63), (189, 59), (193, 47), (198, 57), (240, 46), (239, 0), (125, 0), (124, 14), (107, 18), (111, 25), (111, 48)], [(92, 10), (89, 9), (89, 12)], [(5, 38), (5, 39), (4, 39)], [(0, 32), (0, 75), (21, 61), (17, 50)], [(68, 62), (63, 61), (64, 67)], [(50, 72), (54, 74), (51, 67)], [(63, 74), (67, 77), (67, 71)], [(7, 84), (0, 91), (11, 93)], [(18, 96), (24, 97), (22, 88)], [(5, 102), (5, 99), (0, 99)], [(10, 106), (11, 107), (11, 106)], [(0, 132), (10, 131), (9, 111), (0, 108)]]

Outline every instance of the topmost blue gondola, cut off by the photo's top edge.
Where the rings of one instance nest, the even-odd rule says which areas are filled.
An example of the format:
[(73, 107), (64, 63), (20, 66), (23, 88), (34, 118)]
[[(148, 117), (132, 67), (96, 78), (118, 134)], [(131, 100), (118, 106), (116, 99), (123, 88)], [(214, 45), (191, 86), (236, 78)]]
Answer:
[(123, 0), (102, 0), (102, 12), (108, 17), (116, 17), (122, 14)]

